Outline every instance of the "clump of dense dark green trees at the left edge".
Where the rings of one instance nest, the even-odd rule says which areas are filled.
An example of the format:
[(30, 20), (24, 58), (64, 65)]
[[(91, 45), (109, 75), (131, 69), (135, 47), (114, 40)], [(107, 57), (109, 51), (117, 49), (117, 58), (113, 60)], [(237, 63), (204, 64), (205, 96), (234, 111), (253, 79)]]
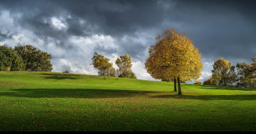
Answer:
[(51, 55), (31, 45), (15, 48), (0, 46), (0, 71), (51, 72)]

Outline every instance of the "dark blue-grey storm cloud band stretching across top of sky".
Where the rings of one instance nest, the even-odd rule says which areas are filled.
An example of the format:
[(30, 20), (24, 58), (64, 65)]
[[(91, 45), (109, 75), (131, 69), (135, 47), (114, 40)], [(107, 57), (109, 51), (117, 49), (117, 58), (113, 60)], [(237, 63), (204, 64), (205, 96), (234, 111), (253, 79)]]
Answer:
[[(209, 48), (215, 50), (214, 48), (224, 47), (221, 50), (226, 51), (240, 45), (240, 48), (246, 50), (255, 45), (252, 40), (255, 37), (256, 22), (253, 17), (256, 13), (253, 1), (161, 2), (162, 5), (159, 5), (159, 1), (6, 1), (5, 5), (11, 11), (25, 11), (26, 14), (18, 20), (19, 25), (30, 28), (36, 35), (59, 40), (68, 38), (68, 35), (85, 36), (86, 31), (94, 31), (92, 26), (95, 25), (100, 28), (94, 32), (114, 37), (132, 34), (138, 28), (159, 28), (159, 31), (164, 28), (178, 28), (191, 36), (192, 40), (197, 40), (198, 48), (208, 55), (211, 54), (207, 52)], [(164, 5), (167, 5), (166, 10)], [(168, 8), (170, 6), (171, 8)], [(75, 16), (65, 18), (68, 30), (59, 32), (51, 28), (49, 19), (61, 14), (65, 16), (65, 13)], [(239, 16), (236, 16), (236, 13)], [(81, 24), (81, 18), (87, 23)], [(48, 22), (43, 22), (46, 20)], [(161, 25), (164, 20), (180, 23), (182, 26), (164, 27)], [(207, 37), (204, 37), (206, 35)], [(223, 56), (235, 56), (237, 53), (221, 50), (214, 52)], [(255, 49), (248, 50), (255, 52)]]

